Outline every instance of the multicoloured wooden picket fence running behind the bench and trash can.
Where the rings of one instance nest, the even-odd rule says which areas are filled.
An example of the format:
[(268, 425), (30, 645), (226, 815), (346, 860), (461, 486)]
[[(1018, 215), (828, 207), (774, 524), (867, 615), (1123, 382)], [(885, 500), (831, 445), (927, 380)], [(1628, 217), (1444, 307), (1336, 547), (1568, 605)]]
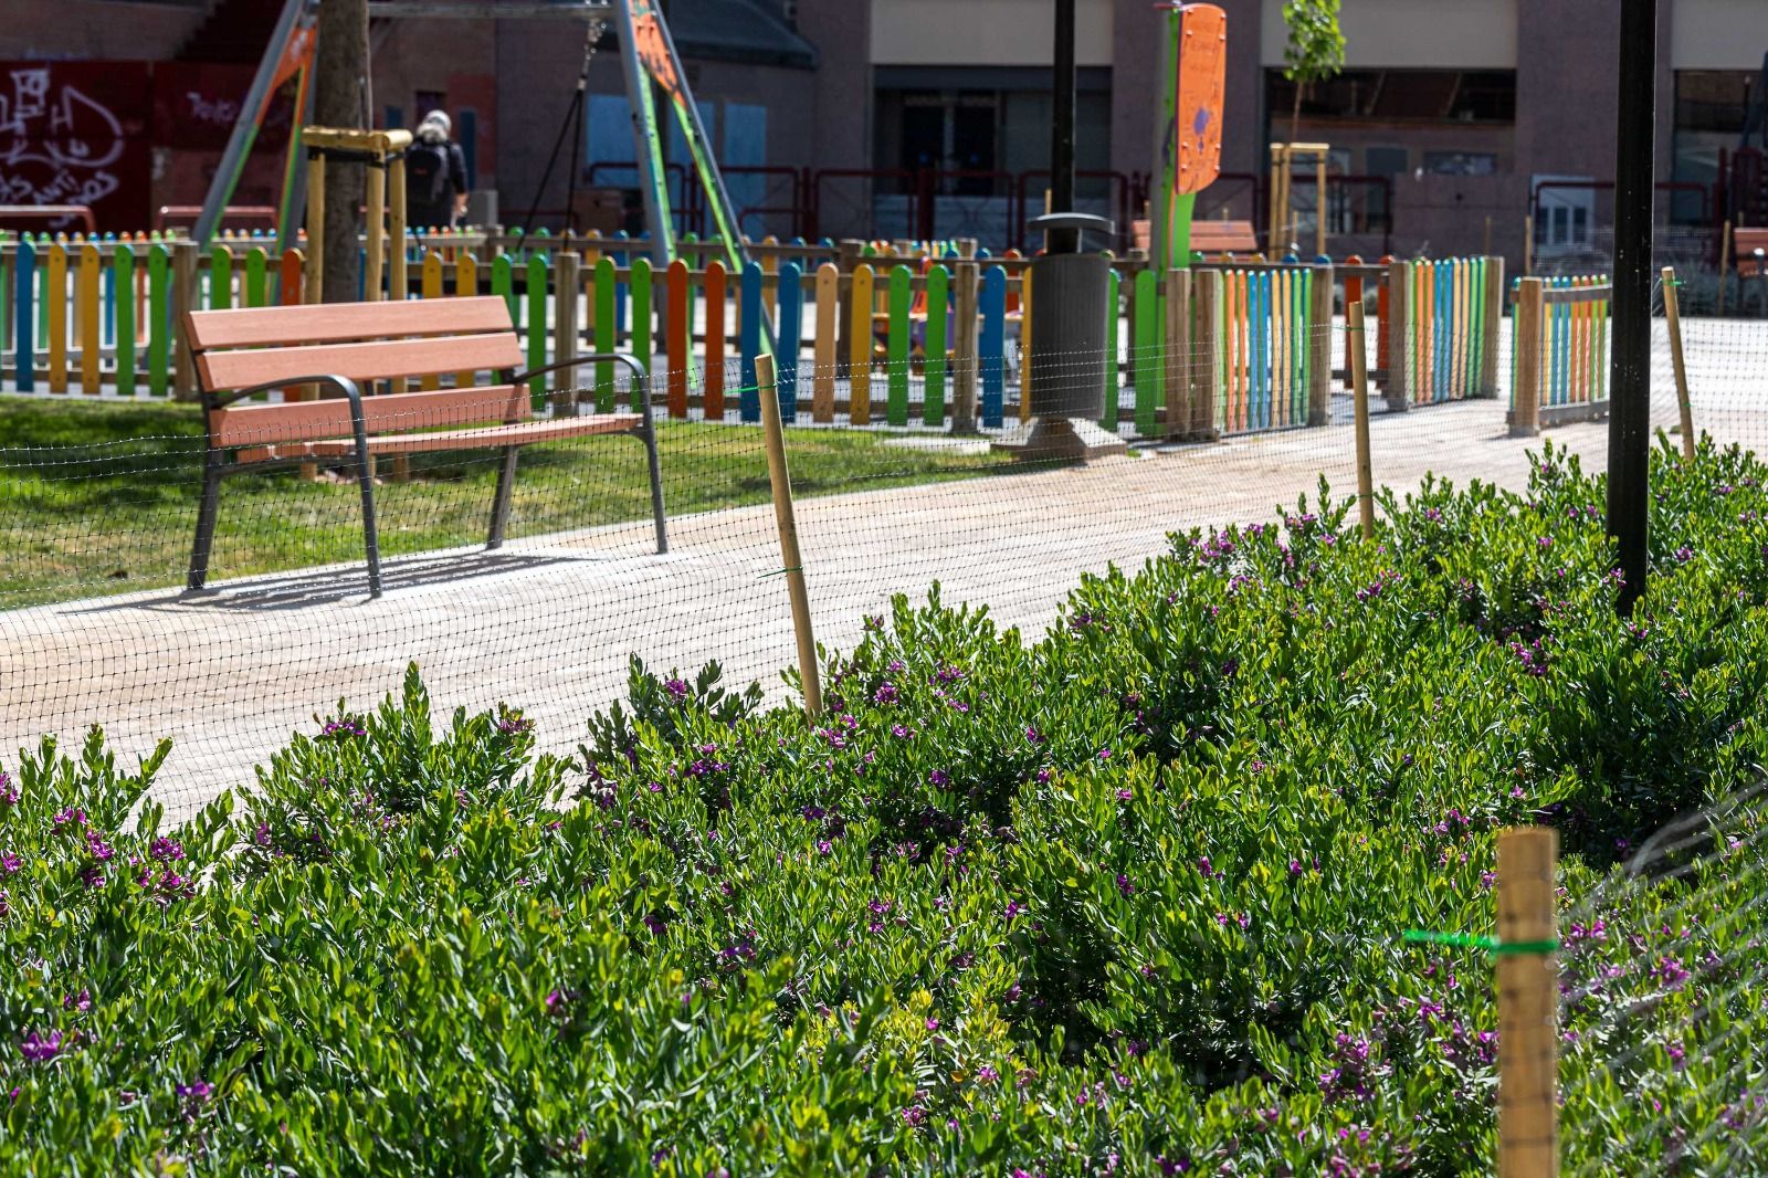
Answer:
[[(978, 258), (976, 281), (965, 285), (964, 260), (949, 249), (895, 256), (847, 242), (838, 256), (834, 242), (767, 242), (773, 253), (728, 272), (690, 242), (684, 258), (658, 272), (644, 242), (621, 235), (553, 239), (552, 253), (534, 248), (543, 233), (525, 241), (525, 249), (483, 256), (465, 237), (414, 239), (407, 294), (504, 297), (530, 366), (585, 350), (635, 352), (658, 373), (652, 396), (674, 419), (760, 421), (755, 371), (764, 352), (778, 361), (773, 393), (789, 423), (803, 414), (946, 428), (962, 412), (983, 428), (1006, 428), (1029, 412), (1018, 357), (1031, 345), (1036, 292), (1024, 258)], [(0, 379), (19, 391), (168, 396), (191, 379), (175, 331), (182, 306), (295, 302), (302, 265), (301, 249), (276, 253), (260, 235), (232, 235), (207, 251), (147, 235), (0, 244)], [(1476, 297), (1487, 262), (1397, 267), (1407, 290), (1395, 301), (1402, 368), (1416, 398), (1467, 396), (1487, 363), (1475, 336), (1496, 322)], [(1335, 281), (1324, 265), (1199, 265), (1169, 276), (1114, 269), (1101, 425), (1174, 437), (1319, 423), (1333, 375)], [(965, 322), (974, 329), (964, 331)], [(774, 325), (767, 338), (764, 324)], [(960, 356), (960, 345), (974, 354)], [(636, 396), (613, 364), (555, 380), (583, 380), (601, 409)], [(530, 387), (537, 400), (546, 391), (543, 380)], [(1176, 412), (1185, 428), (1170, 421)]]

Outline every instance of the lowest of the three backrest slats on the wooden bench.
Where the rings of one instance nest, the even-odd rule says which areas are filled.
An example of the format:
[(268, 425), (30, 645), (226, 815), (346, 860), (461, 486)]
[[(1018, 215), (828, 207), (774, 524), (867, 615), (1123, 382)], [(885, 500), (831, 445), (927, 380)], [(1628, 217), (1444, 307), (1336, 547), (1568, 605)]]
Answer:
[[(362, 398), (362, 421), (370, 433), (523, 421), (529, 414), (529, 391), (513, 384)], [(316, 402), (217, 409), (209, 414), (209, 433), (216, 446), (347, 435), (350, 433), (350, 402), (341, 396), (327, 396)]]

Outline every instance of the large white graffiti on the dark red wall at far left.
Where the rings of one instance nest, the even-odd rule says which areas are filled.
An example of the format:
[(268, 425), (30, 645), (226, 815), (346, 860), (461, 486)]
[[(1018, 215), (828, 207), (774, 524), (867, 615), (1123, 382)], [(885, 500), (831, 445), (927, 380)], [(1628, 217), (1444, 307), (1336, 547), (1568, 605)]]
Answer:
[(143, 203), (147, 67), (92, 65), (0, 64), (0, 203), (94, 212)]

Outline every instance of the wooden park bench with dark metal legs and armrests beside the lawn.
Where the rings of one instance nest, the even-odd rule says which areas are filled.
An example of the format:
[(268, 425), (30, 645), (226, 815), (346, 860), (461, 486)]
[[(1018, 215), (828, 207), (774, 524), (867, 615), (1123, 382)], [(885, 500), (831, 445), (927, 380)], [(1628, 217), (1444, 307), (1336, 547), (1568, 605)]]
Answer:
[[(486, 539), (488, 548), (497, 548), (509, 520), (522, 447), (589, 433), (626, 433), (645, 444), (658, 552), (668, 550), (651, 391), (644, 366), (631, 356), (578, 356), (516, 371), (522, 347), (500, 297), (187, 311), (184, 331), (209, 425), (189, 591), (202, 589), (209, 578), (221, 481), (232, 474), (301, 463), (352, 469), (362, 490), (370, 593), (380, 596), (375, 456), (500, 449)], [(631, 370), (642, 412), (571, 416), (576, 398), (568, 394), (553, 416), (534, 416), (530, 377), (596, 361)], [(458, 373), (456, 387), (373, 394), (375, 382), (446, 373)], [(484, 373), (492, 380), (479, 384)], [(299, 386), (318, 386), (322, 394), (318, 400), (248, 402)]]

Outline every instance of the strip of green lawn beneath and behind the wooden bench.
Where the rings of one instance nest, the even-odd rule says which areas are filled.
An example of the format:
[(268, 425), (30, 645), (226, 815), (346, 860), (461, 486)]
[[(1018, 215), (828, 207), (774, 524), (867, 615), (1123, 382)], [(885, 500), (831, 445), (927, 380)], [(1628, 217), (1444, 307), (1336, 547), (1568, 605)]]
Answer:
[[(888, 444), (859, 430), (792, 430), (797, 497), (903, 486), (1002, 469), (995, 455)], [(769, 499), (757, 426), (659, 428), (674, 520)], [(401, 555), (484, 541), (499, 451), (414, 455), (377, 490), (380, 543)], [(203, 426), (193, 405), (0, 396), (0, 608), (180, 585), (196, 525)], [(522, 453), (513, 538), (651, 516), (644, 446), (589, 437)], [(362, 559), (348, 472), (237, 476), (221, 488), (212, 577)]]

